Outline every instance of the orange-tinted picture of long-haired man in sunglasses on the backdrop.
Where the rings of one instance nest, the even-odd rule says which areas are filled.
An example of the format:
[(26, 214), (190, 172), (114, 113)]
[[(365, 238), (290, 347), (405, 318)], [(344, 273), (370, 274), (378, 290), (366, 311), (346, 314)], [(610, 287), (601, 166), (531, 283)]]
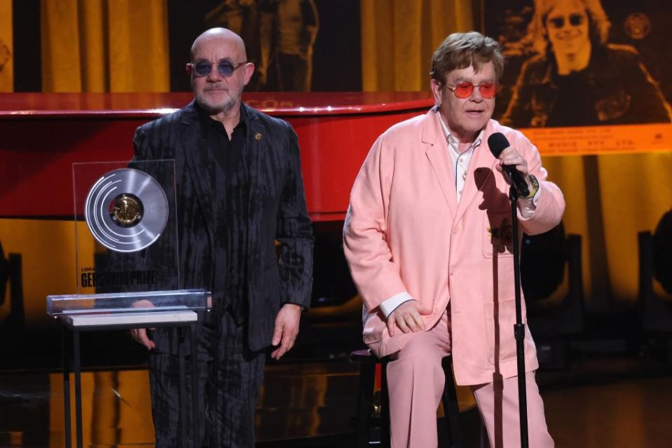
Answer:
[(633, 46), (610, 43), (600, 0), (535, 0), (507, 109), (517, 128), (667, 123), (672, 109)]

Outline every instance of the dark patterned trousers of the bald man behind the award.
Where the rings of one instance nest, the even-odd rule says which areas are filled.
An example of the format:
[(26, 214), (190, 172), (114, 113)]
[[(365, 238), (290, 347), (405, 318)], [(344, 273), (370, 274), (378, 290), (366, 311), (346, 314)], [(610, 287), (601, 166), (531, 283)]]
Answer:
[[(250, 352), (245, 325), (224, 313), (215, 325), (201, 325), (198, 335), (197, 418), (201, 444), (211, 448), (254, 447), (254, 409), (263, 381), (265, 355)], [(187, 391), (191, 389), (187, 363)], [(156, 447), (179, 447), (179, 364), (177, 355), (149, 357), (152, 415)], [(191, 396), (191, 395), (190, 395)], [(191, 401), (188, 415), (191, 415)], [(191, 446), (191, 440), (190, 440)]]

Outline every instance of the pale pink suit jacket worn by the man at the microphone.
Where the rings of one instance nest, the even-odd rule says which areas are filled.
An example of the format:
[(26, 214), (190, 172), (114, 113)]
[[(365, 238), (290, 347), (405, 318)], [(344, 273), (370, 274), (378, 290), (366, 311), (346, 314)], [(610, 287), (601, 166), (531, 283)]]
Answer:
[[(528, 219), (519, 214), (519, 229), (530, 235), (552, 229), (565, 209), (560, 189), (546, 180), (533, 144), (494, 120), (474, 150), (458, 203), (450, 149), (435, 108), (378, 137), (359, 170), (345, 218), (345, 256), (364, 299), (364, 342), (384, 356), (413, 336), (397, 331), (390, 337), (378, 308), (399, 292), (432, 308), (424, 316), (427, 329), (450, 301), (458, 384), (516, 376), (509, 186), (488, 148), (496, 132), (526, 158), (540, 184), (537, 208)], [(538, 364), (527, 326), (524, 346), (529, 372)]]

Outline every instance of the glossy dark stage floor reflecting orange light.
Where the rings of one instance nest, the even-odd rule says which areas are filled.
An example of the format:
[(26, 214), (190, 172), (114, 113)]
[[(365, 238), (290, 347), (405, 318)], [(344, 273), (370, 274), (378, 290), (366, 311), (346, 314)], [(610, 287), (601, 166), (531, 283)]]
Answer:
[[(637, 356), (593, 356), (537, 374), (557, 447), (669, 447), (672, 372)], [(85, 446), (153, 446), (146, 369), (85, 372)], [(268, 365), (259, 398), (259, 448), (352, 447), (357, 366), (346, 360)], [(468, 400), (467, 400), (468, 401)], [(470, 447), (478, 418), (463, 406)], [(62, 447), (59, 372), (0, 373), (0, 447)]]

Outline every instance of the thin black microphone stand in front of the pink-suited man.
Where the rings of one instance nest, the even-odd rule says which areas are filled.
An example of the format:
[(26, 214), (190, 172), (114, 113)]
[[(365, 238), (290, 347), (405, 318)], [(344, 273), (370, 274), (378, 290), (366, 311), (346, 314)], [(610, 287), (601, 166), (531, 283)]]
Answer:
[(518, 360), (518, 402), (521, 421), (521, 448), (528, 448), (528, 399), (525, 383), (525, 324), (523, 324), (523, 311), (521, 304), (521, 260), (518, 240), (518, 191), (511, 185), (509, 188), (511, 200), (512, 222), (512, 245), (514, 250), (514, 283), (516, 287), (516, 325), (514, 335), (516, 337), (516, 358)]

